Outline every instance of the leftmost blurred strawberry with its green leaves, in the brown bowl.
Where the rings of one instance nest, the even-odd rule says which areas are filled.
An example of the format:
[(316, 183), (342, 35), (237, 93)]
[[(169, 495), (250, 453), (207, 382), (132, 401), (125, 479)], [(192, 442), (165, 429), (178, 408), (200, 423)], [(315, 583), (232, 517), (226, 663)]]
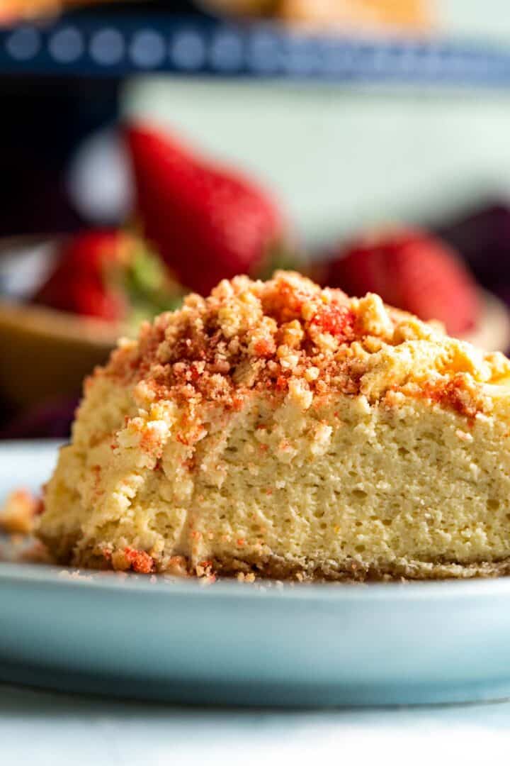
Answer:
[(112, 322), (150, 318), (180, 302), (158, 257), (125, 231), (85, 231), (63, 243), (34, 303)]

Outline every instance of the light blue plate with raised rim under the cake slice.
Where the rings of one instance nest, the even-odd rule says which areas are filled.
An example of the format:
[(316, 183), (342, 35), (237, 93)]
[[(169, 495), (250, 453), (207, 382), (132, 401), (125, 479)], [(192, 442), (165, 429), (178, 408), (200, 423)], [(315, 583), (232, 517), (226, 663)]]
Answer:
[[(54, 442), (0, 447), (0, 496)], [(278, 587), (0, 563), (0, 679), (241, 705), (510, 696), (510, 579)]]

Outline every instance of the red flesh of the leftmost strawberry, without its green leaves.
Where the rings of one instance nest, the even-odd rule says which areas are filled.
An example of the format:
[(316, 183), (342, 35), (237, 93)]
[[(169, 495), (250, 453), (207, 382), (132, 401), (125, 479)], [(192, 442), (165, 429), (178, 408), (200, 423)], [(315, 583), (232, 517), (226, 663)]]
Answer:
[(122, 231), (86, 231), (63, 244), (47, 282), (34, 296), (60, 311), (124, 319), (127, 304), (112, 279), (128, 247)]

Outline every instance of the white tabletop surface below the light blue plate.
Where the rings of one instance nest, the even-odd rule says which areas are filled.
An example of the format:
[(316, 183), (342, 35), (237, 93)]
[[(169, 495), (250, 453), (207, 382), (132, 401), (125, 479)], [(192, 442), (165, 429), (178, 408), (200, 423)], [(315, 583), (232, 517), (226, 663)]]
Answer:
[(506, 763), (510, 703), (352, 712), (179, 708), (0, 685), (0, 762), (34, 766)]

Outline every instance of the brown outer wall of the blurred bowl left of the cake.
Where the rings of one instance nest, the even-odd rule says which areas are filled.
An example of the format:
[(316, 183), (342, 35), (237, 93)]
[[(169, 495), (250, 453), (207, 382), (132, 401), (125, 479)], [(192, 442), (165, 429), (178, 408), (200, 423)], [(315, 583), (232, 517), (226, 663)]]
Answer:
[(0, 396), (27, 406), (76, 394), (122, 330), (100, 319), (0, 301)]

